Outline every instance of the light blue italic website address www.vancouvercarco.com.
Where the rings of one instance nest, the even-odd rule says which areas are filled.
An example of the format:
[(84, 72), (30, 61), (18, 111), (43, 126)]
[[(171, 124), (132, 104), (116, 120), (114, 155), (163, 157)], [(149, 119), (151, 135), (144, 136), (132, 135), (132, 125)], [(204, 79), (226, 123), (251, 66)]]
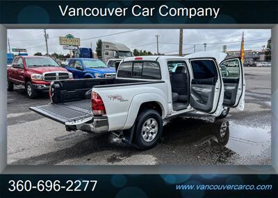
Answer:
[(219, 185), (219, 184), (179, 184), (176, 190), (271, 190), (272, 185)]

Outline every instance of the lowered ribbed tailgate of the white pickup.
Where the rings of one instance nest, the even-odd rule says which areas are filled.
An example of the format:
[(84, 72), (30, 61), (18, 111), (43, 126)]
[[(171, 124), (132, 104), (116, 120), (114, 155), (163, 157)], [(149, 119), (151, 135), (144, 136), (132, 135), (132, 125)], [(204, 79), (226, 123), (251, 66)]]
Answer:
[(29, 109), (64, 125), (78, 125), (88, 122), (93, 117), (90, 100), (42, 105)]

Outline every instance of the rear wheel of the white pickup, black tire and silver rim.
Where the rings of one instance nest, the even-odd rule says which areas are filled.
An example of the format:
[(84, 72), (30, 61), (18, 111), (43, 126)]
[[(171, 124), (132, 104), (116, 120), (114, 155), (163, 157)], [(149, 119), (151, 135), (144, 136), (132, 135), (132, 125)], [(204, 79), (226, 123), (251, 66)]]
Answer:
[[(148, 124), (149, 122), (150, 124)], [(140, 150), (148, 150), (158, 143), (162, 130), (163, 121), (161, 115), (153, 109), (145, 109), (139, 113), (136, 119), (133, 142)]]

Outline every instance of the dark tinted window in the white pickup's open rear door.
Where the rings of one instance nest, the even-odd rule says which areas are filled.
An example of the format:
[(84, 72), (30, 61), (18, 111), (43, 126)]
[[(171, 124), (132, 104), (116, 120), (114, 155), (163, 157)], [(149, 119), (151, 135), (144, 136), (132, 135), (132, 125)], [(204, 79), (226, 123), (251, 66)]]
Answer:
[(195, 79), (214, 78), (217, 76), (213, 60), (193, 60), (191, 65)]

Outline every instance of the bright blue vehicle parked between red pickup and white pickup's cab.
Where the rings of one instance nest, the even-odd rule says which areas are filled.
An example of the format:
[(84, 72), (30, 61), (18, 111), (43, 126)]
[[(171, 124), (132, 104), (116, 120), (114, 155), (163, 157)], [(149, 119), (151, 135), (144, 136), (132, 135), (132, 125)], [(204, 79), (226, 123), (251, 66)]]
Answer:
[(116, 75), (115, 68), (95, 58), (71, 58), (65, 68), (72, 73), (74, 79), (111, 78)]

